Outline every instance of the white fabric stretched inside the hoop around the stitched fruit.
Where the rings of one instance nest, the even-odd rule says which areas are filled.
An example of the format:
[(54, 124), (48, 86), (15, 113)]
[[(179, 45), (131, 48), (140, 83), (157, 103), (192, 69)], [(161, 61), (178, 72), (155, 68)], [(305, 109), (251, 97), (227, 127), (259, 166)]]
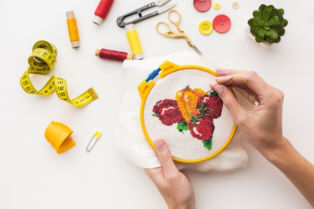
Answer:
[[(149, 138), (151, 140), (165, 139), (172, 156), (182, 160), (203, 159), (220, 150), (230, 138), (235, 125), (232, 115), (225, 106), (223, 106), (221, 116), (213, 120), (215, 130), (210, 150), (203, 146), (202, 140), (193, 137), (190, 130), (179, 132), (178, 123), (167, 126), (158, 117), (152, 116), (152, 109), (156, 102), (164, 99), (175, 99), (177, 92), (185, 89), (188, 85), (191, 89), (202, 89), (205, 93), (205, 91), (210, 90), (208, 84), (214, 81), (215, 76), (213, 74), (198, 69), (175, 71), (156, 81), (144, 106), (144, 124)], [(218, 96), (215, 97), (219, 98)]]

